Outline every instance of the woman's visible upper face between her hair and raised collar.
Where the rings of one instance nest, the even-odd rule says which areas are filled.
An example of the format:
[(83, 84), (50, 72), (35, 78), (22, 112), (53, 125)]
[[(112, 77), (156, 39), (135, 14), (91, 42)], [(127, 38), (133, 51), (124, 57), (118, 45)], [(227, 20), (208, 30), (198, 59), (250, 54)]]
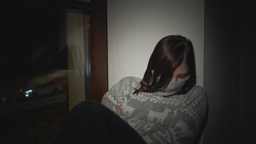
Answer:
[(185, 79), (188, 76), (188, 65), (183, 62), (179, 67), (173, 72), (171, 82), (177, 82)]

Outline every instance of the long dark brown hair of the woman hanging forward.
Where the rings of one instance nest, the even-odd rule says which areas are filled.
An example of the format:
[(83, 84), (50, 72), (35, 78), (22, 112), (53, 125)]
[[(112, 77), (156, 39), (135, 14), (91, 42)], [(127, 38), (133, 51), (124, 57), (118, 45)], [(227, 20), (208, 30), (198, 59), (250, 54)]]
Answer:
[[(147, 70), (143, 76), (141, 87), (135, 89), (138, 92), (158, 92), (167, 87), (173, 72), (185, 61), (188, 65), (189, 79), (176, 93), (166, 95), (169, 97), (176, 94), (187, 93), (196, 83), (195, 56), (191, 41), (181, 35), (169, 35), (162, 38), (155, 46), (149, 58)], [(152, 73), (152, 70), (154, 73)], [(158, 77), (159, 81), (156, 82)]]

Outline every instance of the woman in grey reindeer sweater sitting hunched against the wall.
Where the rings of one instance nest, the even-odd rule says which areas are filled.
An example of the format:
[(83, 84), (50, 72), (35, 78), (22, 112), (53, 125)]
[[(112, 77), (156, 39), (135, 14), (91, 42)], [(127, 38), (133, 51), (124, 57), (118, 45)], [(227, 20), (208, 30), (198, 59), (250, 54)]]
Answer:
[(169, 35), (156, 44), (143, 79), (125, 77), (102, 102), (71, 111), (59, 143), (199, 143), (208, 100), (196, 84), (193, 44)]

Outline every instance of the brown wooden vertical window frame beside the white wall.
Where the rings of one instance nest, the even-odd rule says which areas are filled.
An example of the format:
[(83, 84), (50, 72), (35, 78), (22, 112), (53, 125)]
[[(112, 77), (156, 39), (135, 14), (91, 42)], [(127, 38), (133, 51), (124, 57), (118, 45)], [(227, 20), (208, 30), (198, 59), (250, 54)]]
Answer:
[(101, 102), (108, 91), (107, 0), (91, 0), (91, 97)]

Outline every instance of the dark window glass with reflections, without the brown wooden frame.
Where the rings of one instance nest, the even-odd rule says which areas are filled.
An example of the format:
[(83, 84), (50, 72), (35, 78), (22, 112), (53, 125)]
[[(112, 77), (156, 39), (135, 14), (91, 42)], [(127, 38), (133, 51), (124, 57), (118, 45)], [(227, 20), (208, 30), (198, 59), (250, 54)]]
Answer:
[[(88, 17), (63, 9), (22, 8), (8, 14), (9, 45), (0, 54), (0, 111), (42, 99), (85, 99)], [(83, 93), (73, 100), (68, 95), (74, 91)]]

